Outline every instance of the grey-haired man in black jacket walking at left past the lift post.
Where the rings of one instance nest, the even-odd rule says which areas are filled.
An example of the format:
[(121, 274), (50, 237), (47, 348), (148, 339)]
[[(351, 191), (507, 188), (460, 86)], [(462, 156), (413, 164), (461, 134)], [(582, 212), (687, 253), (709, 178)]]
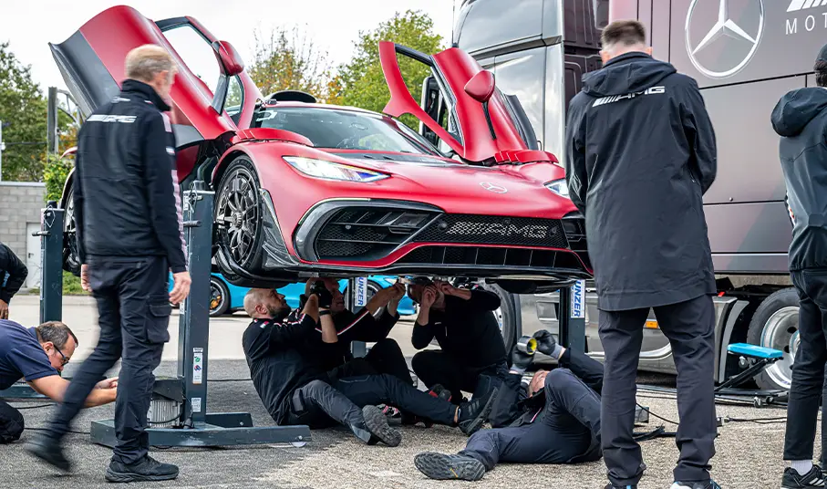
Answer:
[[(162, 47), (129, 52), (119, 96), (89, 116), (78, 134), (75, 219), (81, 284), (98, 302), (95, 351), (69, 384), (48, 432), (29, 446), (63, 470), (70, 463), (61, 438), (89, 391), (123, 355), (115, 401), (117, 444), (110, 482), (160, 481), (178, 467), (149, 454), (147, 411), (164, 343), (170, 340), (170, 303), (190, 291), (175, 138), (167, 100), (177, 71)], [(170, 270), (175, 280), (167, 285)]]

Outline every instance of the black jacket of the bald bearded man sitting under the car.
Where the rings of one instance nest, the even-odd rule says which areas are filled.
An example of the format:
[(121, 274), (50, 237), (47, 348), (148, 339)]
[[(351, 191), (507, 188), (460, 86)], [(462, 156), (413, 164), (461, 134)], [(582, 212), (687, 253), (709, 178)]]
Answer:
[(242, 345), (256, 392), (277, 424), (290, 412), (293, 392), (312, 380), (327, 380), (326, 370), (305, 359), (315, 355), (315, 321), (253, 319), (244, 330)]

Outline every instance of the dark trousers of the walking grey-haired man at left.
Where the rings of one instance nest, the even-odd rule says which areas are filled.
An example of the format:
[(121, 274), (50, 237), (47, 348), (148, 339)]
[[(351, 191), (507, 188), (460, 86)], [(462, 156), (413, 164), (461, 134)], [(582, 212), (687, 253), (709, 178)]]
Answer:
[(95, 384), (123, 358), (115, 401), (113, 459), (135, 463), (149, 450), (147, 411), (167, 331), (171, 306), (165, 257), (91, 257), (89, 283), (98, 302), (100, 338), (69, 383), (64, 401), (49, 423), (62, 437)]

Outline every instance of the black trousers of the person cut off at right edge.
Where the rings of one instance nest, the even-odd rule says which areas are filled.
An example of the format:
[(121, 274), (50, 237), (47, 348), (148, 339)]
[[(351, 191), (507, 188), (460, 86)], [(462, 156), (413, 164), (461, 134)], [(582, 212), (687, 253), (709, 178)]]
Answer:
[[(792, 272), (798, 291), (799, 338), (801, 343), (792, 364), (790, 401), (787, 403), (787, 434), (784, 460), (812, 460), (816, 423), (821, 409), (827, 408), (824, 368), (827, 365), (827, 268)], [(822, 411), (822, 454), (827, 449), (827, 414)]]

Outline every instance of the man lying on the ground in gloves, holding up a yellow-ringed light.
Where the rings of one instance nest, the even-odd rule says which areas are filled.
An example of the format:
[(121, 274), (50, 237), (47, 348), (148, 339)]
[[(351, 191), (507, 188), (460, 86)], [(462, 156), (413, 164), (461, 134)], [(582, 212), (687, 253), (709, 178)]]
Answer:
[[(511, 375), (500, 384), (493, 430), (470, 437), (456, 455), (419, 453), (419, 472), (431, 479), (478, 481), (498, 462), (581, 463), (599, 460), (603, 365), (584, 353), (557, 345), (548, 331), (534, 333), (537, 350), (568, 368), (538, 370), (528, 387), (522, 372), (532, 357), (513, 350)], [(495, 382), (496, 384), (496, 382)], [(507, 426), (497, 428), (498, 426)]]

